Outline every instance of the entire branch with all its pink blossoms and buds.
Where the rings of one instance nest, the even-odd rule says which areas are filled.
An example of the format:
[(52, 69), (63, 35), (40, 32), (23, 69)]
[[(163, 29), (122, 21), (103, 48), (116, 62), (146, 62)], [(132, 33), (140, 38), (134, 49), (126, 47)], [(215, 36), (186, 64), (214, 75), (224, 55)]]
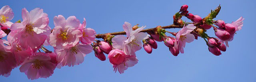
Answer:
[[(109, 59), (114, 72), (124, 73), (128, 67), (138, 63), (136, 51), (142, 47), (147, 53), (156, 49), (157, 42), (164, 42), (174, 56), (184, 53), (186, 43), (204, 38), (208, 50), (219, 56), (225, 52), (228, 42), (243, 26), (244, 18), (226, 24), (223, 20), (213, 20), (216, 11), (202, 19), (198, 15), (188, 13), (188, 6), (183, 5), (174, 18), (174, 25), (182, 26), (178, 32), (168, 32), (161, 26), (152, 28), (147, 33), (142, 32), (146, 26), (132, 26), (129, 22), (122, 25), (126, 36), (119, 34), (104, 34), (103, 40), (95, 40), (96, 32), (86, 28), (86, 19), (80, 23), (75, 16), (67, 19), (54, 16), (54, 28), (50, 28), (48, 14), (43, 9), (35, 8), (28, 12), (22, 9), (22, 21), (10, 22), (14, 18), (12, 8), (3, 6), (0, 9), (0, 75), (8, 77), (12, 69), (20, 66), (28, 79), (48, 78), (55, 68), (75, 66), (84, 62), (84, 57), (94, 51), (95, 56), (102, 60)], [(181, 20), (185, 16), (193, 23)], [(216, 26), (218, 27), (216, 27)], [(213, 27), (217, 38), (210, 37), (206, 30)], [(10, 30), (10, 31), (8, 31)], [(173, 36), (167, 36), (166, 32)], [(7, 36), (6, 40), (2, 39)], [(225, 45), (226, 44), (226, 45)], [(44, 46), (52, 46), (54, 52)], [(44, 51), (41, 52), (40, 50)], [(105, 53), (105, 54), (104, 54)]]

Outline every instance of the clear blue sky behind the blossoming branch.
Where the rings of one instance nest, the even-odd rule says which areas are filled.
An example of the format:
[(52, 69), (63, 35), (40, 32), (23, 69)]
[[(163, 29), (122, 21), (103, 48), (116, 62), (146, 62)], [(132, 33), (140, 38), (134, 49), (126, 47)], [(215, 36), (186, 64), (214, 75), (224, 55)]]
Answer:
[[(202, 38), (187, 44), (185, 53), (177, 57), (163, 42), (158, 42), (152, 54), (147, 54), (143, 48), (136, 52), (138, 64), (124, 74), (113, 72), (108, 59), (100, 61), (92, 52), (82, 64), (56, 68), (47, 79), (28, 80), (19, 68), (15, 68), (8, 78), (0, 76), (0, 82), (256, 82), (255, 3), (255, 0), (1, 0), (0, 7), (9, 5), (13, 9), (12, 22), (22, 19), (22, 8), (30, 11), (39, 7), (48, 14), (51, 28), (54, 28), (53, 17), (60, 14), (65, 18), (76, 16), (81, 23), (85, 17), (87, 27), (96, 30), (97, 34), (122, 31), (126, 21), (132, 25), (146, 25), (146, 28), (170, 25), (172, 16), (183, 4), (189, 6), (190, 13), (202, 18), (221, 4), (220, 13), (214, 20), (231, 23), (240, 16), (245, 20), (242, 30), (220, 56), (211, 54)], [(178, 30), (168, 29), (170, 32)], [(212, 28), (207, 33), (214, 36)]]

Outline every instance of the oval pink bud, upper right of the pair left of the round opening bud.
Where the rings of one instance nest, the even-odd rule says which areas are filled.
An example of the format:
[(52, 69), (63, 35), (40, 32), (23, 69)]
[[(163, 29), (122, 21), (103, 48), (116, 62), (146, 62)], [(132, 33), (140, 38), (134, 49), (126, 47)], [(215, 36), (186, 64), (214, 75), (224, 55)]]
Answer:
[(100, 49), (103, 50), (104, 53), (108, 54), (112, 50), (112, 46), (106, 42), (106, 41), (101, 41), (99, 43)]

